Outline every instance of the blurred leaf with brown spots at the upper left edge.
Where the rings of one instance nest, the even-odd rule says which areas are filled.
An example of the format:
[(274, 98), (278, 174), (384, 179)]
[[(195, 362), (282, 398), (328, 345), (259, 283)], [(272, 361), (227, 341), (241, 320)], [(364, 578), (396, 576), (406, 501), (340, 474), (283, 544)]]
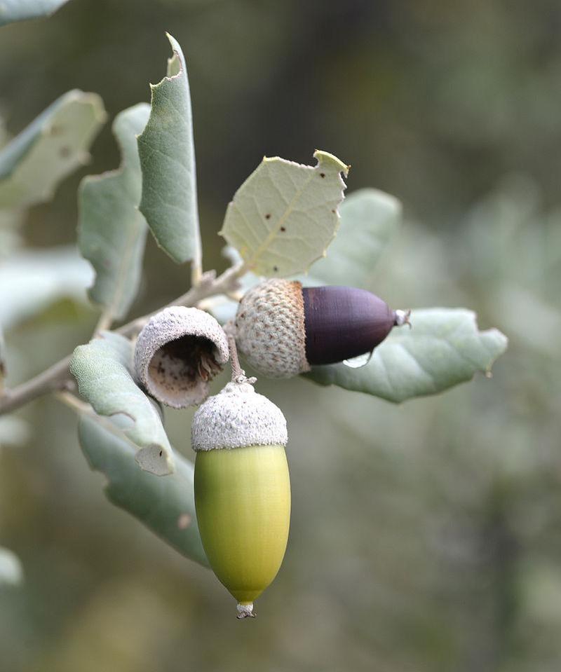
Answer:
[(95, 93), (69, 91), (0, 151), (0, 207), (41, 203), (77, 167), (105, 121)]

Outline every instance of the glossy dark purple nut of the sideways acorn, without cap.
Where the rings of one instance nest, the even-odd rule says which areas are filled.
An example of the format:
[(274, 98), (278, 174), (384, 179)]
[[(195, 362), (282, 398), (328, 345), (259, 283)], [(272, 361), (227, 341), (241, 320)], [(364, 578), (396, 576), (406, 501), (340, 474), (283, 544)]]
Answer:
[(304, 287), (306, 359), (334, 364), (370, 352), (396, 324), (396, 312), (356, 287)]

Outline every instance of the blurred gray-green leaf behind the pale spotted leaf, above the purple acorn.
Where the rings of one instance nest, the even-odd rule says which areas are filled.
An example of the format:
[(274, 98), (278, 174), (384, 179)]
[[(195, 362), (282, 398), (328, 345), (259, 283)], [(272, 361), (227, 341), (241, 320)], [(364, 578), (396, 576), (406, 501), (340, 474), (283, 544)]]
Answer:
[(369, 287), (374, 266), (396, 233), (401, 203), (384, 191), (360, 189), (344, 200), (339, 212), (341, 226), (311, 273), (327, 284)]

